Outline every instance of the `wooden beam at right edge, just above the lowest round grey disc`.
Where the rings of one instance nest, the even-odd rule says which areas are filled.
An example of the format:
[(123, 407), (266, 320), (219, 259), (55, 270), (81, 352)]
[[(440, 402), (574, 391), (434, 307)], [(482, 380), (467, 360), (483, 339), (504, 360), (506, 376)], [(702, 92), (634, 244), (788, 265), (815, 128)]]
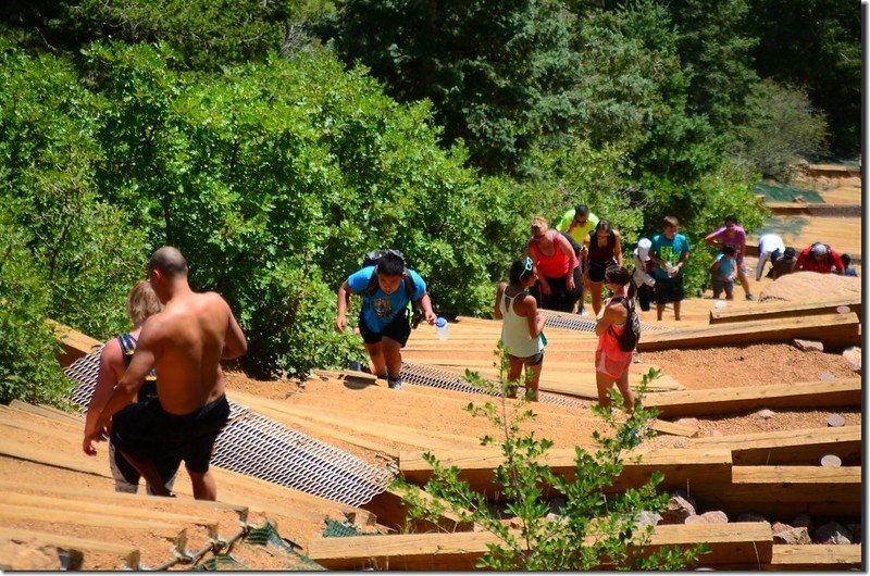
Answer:
[(846, 466), (861, 465), (861, 427), (806, 428), (697, 438), (695, 448), (731, 450), (734, 465), (819, 465), (825, 454)]

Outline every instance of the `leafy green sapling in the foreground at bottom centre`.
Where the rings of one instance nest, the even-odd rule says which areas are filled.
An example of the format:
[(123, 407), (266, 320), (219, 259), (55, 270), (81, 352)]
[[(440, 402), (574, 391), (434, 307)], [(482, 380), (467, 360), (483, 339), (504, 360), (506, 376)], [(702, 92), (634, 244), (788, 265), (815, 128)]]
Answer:
[[(477, 562), (477, 567), (498, 571), (566, 571), (593, 569), (610, 566), (620, 569), (681, 569), (696, 562), (707, 551), (705, 546), (694, 548), (663, 547), (644, 551), (654, 531), (652, 526), (642, 526), (644, 511), (659, 512), (668, 494), (656, 492), (662, 480), (661, 473), (654, 474), (641, 487), (616, 493), (607, 490), (622, 472), (627, 452), (639, 446), (654, 433), (651, 410), (642, 400), (649, 381), (659, 376), (655, 370), (643, 379), (635, 410), (631, 414), (608, 406), (594, 406), (612, 434), (599, 431), (593, 437), (598, 449), (591, 453), (575, 449), (575, 478), (567, 479), (555, 474), (544, 456), (552, 447), (545, 438), (535, 438), (533, 431), (523, 431), (522, 424), (535, 417), (530, 403), (505, 401), (507, 391), (515, 383), (506, 381), (507, 355), (500, 351), (501, 401), (483, 405), (470, 403), (465, 410), (475, 416), (489, 420), (499, 429), (499, 447), (504, 463), (495, 471), (494, 485), (500, 489), (500, 502), (489, 502), (486, 494), (473, 490), (459, 479), (460, 469), (442, 463), (432, 453), (424, 460), (433, 467), (433, 477), (425, 491), (434, 497), (423, 500), (409, 491), (406, 498), (408, 514), (413, 518), (435, 521), (449, 508), (463, 522), (474, 522), (494, 534), (497, 541)], [(468, 373), (467, 379), (482, 388), (496, 389), (477, 374)], [(612, 405), (622, 405), (621, 395), (611, 390)], [(496, 444), (495, 438), (485, 436), (482, 446)], [(399, 487), (408, 485), (397, 479)], [(564, 501), (561, 510), (549, 514), (549, 500), (559, 497)], [(511, 518), (510, 522), (505, 522)]]

